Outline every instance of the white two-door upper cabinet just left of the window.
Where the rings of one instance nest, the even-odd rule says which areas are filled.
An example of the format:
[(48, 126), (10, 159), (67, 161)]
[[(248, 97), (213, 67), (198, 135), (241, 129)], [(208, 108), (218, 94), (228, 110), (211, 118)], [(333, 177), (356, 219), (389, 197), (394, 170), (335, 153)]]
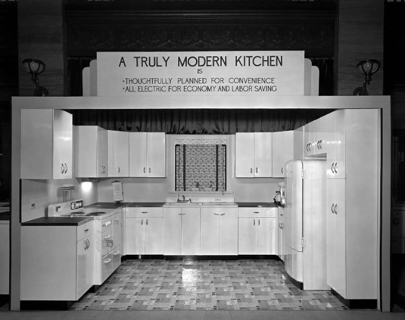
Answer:
[(166, 177), (164, 132), (129, 133), (130, 177)]

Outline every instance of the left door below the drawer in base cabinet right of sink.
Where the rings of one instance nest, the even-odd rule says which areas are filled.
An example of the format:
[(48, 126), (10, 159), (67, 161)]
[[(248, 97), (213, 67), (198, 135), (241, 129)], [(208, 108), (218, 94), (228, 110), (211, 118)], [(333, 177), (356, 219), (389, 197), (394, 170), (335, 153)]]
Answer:
[(255, 218), (238, 218), (238, 254), (256, 254)]

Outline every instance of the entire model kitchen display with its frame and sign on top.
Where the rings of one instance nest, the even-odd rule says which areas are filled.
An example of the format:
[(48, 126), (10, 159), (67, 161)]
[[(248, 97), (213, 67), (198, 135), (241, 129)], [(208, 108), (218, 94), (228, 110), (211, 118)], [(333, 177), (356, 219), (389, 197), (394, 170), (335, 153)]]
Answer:
[(266, 54), (277, 96), (134, 95), (101, 53), (87, 96), (13, 98), (22, 308), (379, 308), (389, 98), (318, 97), (303, 52)]

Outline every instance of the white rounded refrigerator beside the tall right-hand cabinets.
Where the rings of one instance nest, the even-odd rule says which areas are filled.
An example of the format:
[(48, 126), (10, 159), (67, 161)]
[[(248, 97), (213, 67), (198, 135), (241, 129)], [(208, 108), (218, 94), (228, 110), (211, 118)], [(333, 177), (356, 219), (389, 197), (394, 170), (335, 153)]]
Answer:
[(303, 290), (329, 290), (326, 278), (326, 161), (285, 166), (285, 268)]

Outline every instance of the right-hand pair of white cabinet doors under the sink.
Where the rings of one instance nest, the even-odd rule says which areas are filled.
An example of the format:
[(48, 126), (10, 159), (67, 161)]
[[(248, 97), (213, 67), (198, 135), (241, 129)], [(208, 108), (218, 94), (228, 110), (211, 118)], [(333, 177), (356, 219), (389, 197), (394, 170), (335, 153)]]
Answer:
[(201, 255), (237, 255), (236, 208), (201, 208)]

